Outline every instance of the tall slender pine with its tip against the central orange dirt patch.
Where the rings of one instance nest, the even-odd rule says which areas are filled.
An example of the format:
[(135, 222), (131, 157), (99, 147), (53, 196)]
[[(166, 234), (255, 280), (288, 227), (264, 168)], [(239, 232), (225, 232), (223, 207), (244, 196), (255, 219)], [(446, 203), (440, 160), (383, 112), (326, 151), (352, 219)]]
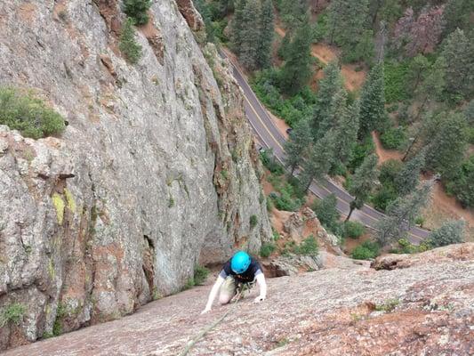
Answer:
[[(317, 101), (311, 124), (315, 137), (324, 136), (325, 131), (323, 129), (319, 130), (320, 125), (330, 120), (329, 115), (333, 97), (343, 88), (343, 80), (337, 61), (330, 62), (325, 66), (323, 72), (325, 76), (318, 82)], [(318, 134), (319, 131), (321, 131), (321, 134)]]

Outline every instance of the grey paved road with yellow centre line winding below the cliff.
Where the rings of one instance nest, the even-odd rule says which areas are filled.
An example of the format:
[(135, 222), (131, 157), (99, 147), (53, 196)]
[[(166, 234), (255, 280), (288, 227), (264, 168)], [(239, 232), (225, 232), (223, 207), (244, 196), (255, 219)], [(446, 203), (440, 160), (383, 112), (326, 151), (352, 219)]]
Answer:
[[(221, 53), (221, 55), (229, 58), (225, 53)], [(285, 158), (285, 150), (283, 148), (285, 137), (280, 133), (271, 117), (269, 117), (267, 110), (263, 108), (261, 102), (253, 93), (250, 85), (245, 81), (242, 72), (237, 69), (237, 66), (234, 63), (232, 63), (232, 66), (234, 77), (245, 94), (245, 114), (249, 119), (250, 125), (253, 127), (253, 131), (257, 134), (262, 146), (273, 149), (273, 153), (277, 159), (280, 162), (283, 162), (283, 159)], [(337, 209), (341, 214), (349, 214), (349, 202), (352, 200), (352, 197), (347, 191), (341, 189), (338, 185), (329, 180), (318, 181), (313, 182), (310, 185), (309, 190), (311, 190), (311, 192), (313, 192), (318, 198), (325, 198), (327, 195), (333, 193), (337, 198)], [(375, 224), (383, 216), (384, 214), (375, 210), (373, 207), (364, 206), (360, 210), (355, 210), (352, 213), (351, 219), (364, 223), (367, 227), (374, 229)], [(419, 244), (422, 239), (425, 239), (428, 236), (428, 233), (429, 231), (414, 227), (409, 232), (408, 237), (410, 242)]]

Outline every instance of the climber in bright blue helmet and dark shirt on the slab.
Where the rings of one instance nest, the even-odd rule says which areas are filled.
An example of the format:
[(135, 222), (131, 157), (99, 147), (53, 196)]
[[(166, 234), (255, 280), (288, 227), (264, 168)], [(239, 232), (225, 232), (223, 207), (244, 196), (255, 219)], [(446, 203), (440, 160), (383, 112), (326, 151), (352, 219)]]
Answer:
[(201, 312), (201, 314), (211, 310), (214, 299), (218, 293), (219, 303), (227, 304), (232, 300), (234, 295), (237, 295), (237, 288), (245, 284), (251, 287), (255, 280), (259, 285), (260, 295), (257, 296), (253, 302), (260, 303), (267, 297), (267, 283), (261, 271), (261, 265), (256, 259), (244, 251), (238, 251), (222, 267), (221, 273), (219, 273), (211, 289), (211, 293), (209, 293), (205, 310)]

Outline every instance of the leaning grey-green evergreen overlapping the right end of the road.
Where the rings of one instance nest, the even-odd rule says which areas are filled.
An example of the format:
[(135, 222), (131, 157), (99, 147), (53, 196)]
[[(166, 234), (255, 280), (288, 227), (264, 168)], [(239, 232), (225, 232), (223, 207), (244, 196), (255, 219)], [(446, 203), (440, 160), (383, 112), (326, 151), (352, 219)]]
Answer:
[(426, 182), (412, 194), (397, 198), (390, 204), (387, 216), (383, 217), (376, 226), (377, 240), (382, 246), (406, 237), (406, 233), (414, 225), (414, 220), (420, 214), (422, 207), (428, 203), (433, 184), (434, 181)]

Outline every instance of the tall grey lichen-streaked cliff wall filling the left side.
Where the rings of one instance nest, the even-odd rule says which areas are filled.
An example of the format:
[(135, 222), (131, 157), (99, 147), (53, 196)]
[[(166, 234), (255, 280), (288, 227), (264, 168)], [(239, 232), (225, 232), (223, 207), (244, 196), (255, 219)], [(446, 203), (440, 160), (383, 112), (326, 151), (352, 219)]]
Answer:
[(38, 141), (0, 126), (0, 309), (26, 307), (0, 349), (131, 313), (269, 239), (240, 90), (179, 10), (154, 2), (131, 66), (116, 0), (0, 4), (0, 85), (68, 120)]

